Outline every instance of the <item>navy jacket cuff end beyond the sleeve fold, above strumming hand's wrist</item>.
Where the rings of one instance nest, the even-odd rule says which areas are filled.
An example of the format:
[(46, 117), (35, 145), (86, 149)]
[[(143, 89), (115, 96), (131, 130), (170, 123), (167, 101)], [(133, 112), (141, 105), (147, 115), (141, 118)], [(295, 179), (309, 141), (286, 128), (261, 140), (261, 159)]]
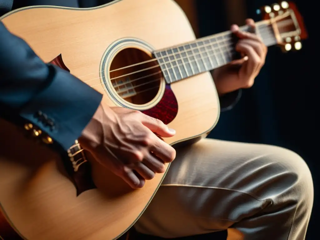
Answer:
[(92, 119), (102, 94), (67, 71), (48, 66), (51, 83), (21, 109), (20, 116), (67, 151)]

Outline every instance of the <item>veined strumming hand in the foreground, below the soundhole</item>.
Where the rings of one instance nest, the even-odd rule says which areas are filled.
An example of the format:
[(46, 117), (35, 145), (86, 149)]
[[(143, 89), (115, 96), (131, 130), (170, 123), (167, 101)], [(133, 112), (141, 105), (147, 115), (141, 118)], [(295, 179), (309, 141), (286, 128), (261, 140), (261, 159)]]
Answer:
[(165, 171), (175, 150), (161, 137), (172, 137), (161, 121), (127, 108), (101, 103), (79, 142), (102, 165), (121, 177), (132, 188), (143, 187), (145, 180)]

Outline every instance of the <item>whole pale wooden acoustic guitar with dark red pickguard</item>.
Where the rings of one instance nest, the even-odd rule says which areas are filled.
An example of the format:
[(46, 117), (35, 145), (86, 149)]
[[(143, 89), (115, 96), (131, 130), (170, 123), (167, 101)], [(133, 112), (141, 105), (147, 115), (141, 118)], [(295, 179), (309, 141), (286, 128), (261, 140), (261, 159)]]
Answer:
[[(265, 6), (261, 14), (256, 34), (267, 46), (301, 48), (307, 36), (294, 4)], [(103, 93), (110, 106), (139, 110), (175, 129), (174, 137), (164, 139), (171, 145), (213, 129), (220, 105), (209, 71), (238, 57), (230, 31), (196, 39), (172, 0), (115, 0), (86, 9), (32, 6), (1, 21), (45, 62)], [(0, 239), (117, 239), (138, 220), (165, 176), (133, 190), (88, 161), (77, 141), (68, 165), (36, 126), (27, 123), (24, 131), (33, 138), (0, 122)]]

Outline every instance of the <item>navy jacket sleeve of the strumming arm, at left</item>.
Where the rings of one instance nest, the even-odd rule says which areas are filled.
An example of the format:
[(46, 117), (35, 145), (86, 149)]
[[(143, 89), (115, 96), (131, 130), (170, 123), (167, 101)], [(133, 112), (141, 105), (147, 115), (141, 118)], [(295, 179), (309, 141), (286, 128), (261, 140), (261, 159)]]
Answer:
[(37, 126), (68, 150), (98, 108), (102, 94), (44, 63), (0, 21), (0, 117)]

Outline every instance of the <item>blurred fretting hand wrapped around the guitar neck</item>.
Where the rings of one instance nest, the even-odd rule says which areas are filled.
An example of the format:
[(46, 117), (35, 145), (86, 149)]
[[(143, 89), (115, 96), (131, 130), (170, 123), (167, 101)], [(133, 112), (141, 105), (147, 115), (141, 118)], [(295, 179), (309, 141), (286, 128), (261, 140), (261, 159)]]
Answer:
[[(252, 19), (247, 19), (246, 24), (255, 28)], [(267, 47), (258, 36), (240, 31), (237, 25), (232, 25), (231, 31), (240, 39), (236, 44), (236, 51), (244, 58), (214, 70), (213, 79), (219, 95), (252, 87), (267, 55)]]

